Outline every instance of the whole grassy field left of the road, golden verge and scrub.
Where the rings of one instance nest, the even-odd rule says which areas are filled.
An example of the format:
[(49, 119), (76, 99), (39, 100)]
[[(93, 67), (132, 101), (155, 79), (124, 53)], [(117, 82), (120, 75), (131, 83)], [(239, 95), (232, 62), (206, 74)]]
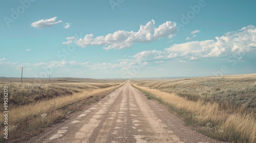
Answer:
[[(103, 83), (19, 83), (0, 82), (1, 89), (8, 86), (8, 140), (36, 135), (44, 127), (54, 124), (83, 106), (97, 102), (120, 87), (121, 81)], [(3, 89), (4, 91), (4, 89)], [(4, 92), (1, 92), (1, 97)], [(4, 103), (1, 98), (0, 102)], [(4, 139), (4, 104), (0, 104), (1, 135)], [(14, 141), (15, 142), (15, 141)]]

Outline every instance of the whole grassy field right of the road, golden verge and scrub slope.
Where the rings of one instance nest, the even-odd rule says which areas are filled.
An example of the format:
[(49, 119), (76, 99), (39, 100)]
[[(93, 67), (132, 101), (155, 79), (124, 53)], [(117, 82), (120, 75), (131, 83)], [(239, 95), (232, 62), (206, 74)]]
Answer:
[(132, 83), (208, 136), (256, 142), (256, 74)]

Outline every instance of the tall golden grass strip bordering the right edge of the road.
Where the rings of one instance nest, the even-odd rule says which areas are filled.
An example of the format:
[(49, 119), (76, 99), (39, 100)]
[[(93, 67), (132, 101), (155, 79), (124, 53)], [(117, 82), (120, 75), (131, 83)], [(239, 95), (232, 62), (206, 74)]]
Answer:
[(221, 110), (218, 103), (205, 103), (202, 100), (197, 102), (189, 101), (179, 97), (176, 93), (134, 86), (161, 98), (162, 102), (167, 103), (176, 110), (190, 113), (193, 116), (193, 120), (201, 125), (208, 126), (208, 123), (211, 123), (212, 127), (218, 127), (216, 128), (218, 131), (215, 132), (222, 136), (220, 137), (221, 139), (228, 138), (228, 140), (236, 142), (256, 142), (256, 119), (253, 113), (228, 113), (226, 110)]

